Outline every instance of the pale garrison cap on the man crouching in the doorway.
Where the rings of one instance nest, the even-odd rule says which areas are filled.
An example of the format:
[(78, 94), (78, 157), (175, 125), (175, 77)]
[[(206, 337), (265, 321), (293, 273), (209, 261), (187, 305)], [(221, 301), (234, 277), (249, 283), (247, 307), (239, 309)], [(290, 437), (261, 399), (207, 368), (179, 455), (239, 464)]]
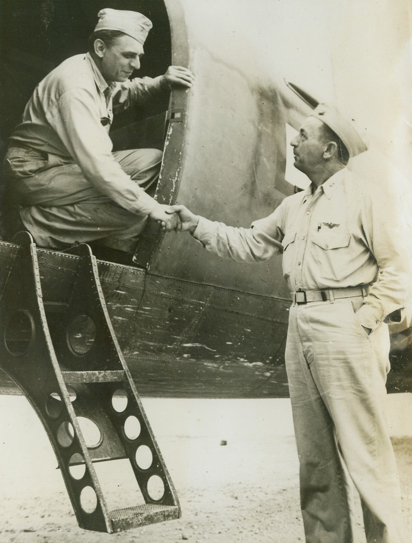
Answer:
[(105, 8), (97, 14), (99, 21), (94, 31), (98, 30), (120, 30), (128, 36), (144, 44), (149, 30), (152, 28), (151, 21), (138, 11), (126, 11), (120, 9)]

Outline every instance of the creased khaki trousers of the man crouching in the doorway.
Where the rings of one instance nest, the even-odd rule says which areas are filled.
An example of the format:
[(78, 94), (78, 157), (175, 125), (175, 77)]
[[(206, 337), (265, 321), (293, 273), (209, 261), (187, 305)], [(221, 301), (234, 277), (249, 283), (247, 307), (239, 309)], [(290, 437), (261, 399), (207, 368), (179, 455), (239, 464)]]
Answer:
[[(115, 151), (113, 156), (145, 190), (156, 182), (162, 162), (158, 149)], [(11, 147), (4, 167), (9, 190), (21, 205), (21, 220), (40, 247), (65, 249), (99, 240), (106, 247), (134, 252), (147, 216), (131, 213), (100, 193), (78, 165)]]

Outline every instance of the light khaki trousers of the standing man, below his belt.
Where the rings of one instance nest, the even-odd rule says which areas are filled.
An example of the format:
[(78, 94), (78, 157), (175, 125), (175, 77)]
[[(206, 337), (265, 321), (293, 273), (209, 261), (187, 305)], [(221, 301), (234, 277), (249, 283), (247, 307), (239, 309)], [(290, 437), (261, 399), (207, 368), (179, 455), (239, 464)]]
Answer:
[(352, 480), (368, 543), (401, 543), (401, 499), (383, 416), (389, 371), (385, 323), (368, 334), (362, 296), (293, 305), (286, 369), (300, 462), (307, 543), (351, 543)]

